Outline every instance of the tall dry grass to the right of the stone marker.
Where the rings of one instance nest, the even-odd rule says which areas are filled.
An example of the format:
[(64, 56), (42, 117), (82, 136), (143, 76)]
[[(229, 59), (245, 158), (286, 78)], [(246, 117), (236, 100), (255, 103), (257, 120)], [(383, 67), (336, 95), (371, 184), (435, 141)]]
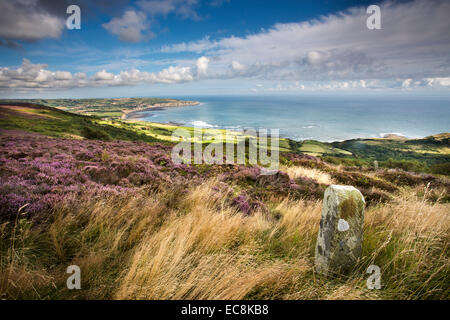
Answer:
[[(410, 190), (392, 204), (368, 210), (365, 219), (367, 259), (379, 265), (386, 294), (413, 299), (447, 296), (450, 272), (450, 210), (427, 202)], [(443, 282), (444, 281), (444, 282)], [(443, 283), (447, 282), (444, 288)], [(447, 288), (445, 288), (447, 287)]]

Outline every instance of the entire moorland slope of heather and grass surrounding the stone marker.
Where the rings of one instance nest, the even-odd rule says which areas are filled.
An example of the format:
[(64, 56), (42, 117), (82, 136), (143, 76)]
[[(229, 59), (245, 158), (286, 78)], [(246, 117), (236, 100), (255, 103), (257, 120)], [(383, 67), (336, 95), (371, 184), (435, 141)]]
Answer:
[[(352, 144), (308, 142), (324, 148), (322, 159), (289, 140), (273, 176), (178, 165), (173, 126), (29, 104), (0, 106), (0, 115), (2, 298), (449, 298), (446, 178), (337, 164), (326, 155), (359, 161), (345, 149)], [(330, 184), (357, 187), (367, 209), (362, 259), (346, 276), (323, 278), (314, 247)], [(82, 290), (66, 288), (72, 264)], [(381, 290), (366, 288), (371, 264)]]

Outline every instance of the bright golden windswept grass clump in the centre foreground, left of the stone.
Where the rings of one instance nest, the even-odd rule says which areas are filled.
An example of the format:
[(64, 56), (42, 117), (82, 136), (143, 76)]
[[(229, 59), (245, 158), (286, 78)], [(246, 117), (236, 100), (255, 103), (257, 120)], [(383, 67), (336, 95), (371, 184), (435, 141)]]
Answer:
[(263, 217), (214, 208), (211, 193), (210, 184), (194, 189), (186, 199), (190, 212), (167, 217), (141, 242), (116, 298), (242, 299), (277, 275), (278, 264), (258, 264), (251, 250), (269, 227)]

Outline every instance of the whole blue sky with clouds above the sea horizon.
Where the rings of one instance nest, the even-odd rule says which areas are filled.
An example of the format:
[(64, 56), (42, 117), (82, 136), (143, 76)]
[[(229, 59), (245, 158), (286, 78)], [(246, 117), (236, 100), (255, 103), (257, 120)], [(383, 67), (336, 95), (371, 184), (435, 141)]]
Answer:
[(0, 98), (447, 94), (449, 16), (448, 0), (0, 0)]

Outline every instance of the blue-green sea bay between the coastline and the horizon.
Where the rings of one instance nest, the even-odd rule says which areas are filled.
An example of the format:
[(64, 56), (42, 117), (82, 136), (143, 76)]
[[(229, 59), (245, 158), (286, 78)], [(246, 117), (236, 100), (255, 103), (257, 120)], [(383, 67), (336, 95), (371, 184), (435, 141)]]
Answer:
[(133, 118), (221, 129), (279, 129), (293, 140), (408, 138), (450, 132), (450, 94), (183, 96), (197, 106), (142, 111)]

